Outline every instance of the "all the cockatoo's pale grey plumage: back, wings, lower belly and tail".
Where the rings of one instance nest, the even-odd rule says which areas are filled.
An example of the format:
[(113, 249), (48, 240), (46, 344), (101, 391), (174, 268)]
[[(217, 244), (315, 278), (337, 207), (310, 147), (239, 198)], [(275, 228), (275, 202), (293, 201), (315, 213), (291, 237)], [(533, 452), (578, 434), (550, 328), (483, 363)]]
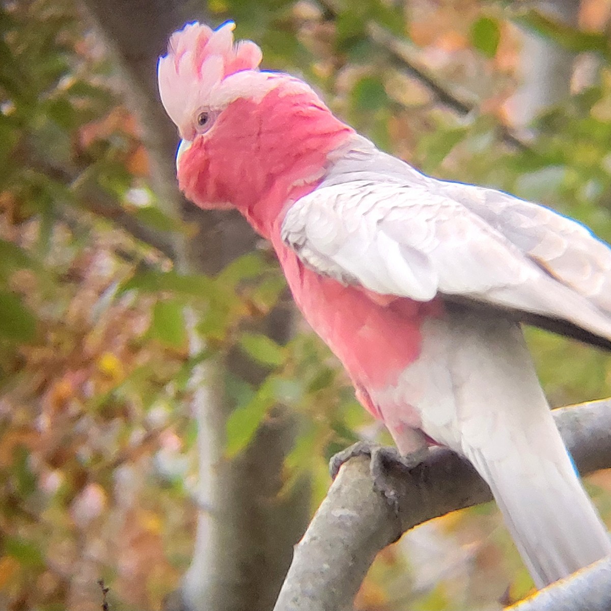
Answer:
[[(547, 208), (426, 177), (360, 136), (288, 209), (282, 238), (345, 284), (419, 301), (464, 296), (611, 338), (606, 244)], [(540, 587), (611, 554), (519, 324), (452, 305), (420, 331), (420, 356), (398, 382), (367, 389), (400, 451), (418, 450), (423, 431), (466, 456)]]

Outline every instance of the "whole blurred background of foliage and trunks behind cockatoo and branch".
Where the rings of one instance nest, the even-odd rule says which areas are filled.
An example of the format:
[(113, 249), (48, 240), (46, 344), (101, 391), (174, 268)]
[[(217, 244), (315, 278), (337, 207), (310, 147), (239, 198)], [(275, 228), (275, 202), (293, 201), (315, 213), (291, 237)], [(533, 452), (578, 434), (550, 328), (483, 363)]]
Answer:
[[(379, 147), (611, 240), (609, 0), (2, 0), (0, 607), (271, 609), (326, 462), (387, 440), (273, 254), (183, 202), (155, 89), (173, 29), (232, 18)], [(529, 329), (552, 405), (609, 356)], [(588, 490), (611, 518), (611, 474)], [(531, 587), (494, 505), (379, 554), (361, 611)]]

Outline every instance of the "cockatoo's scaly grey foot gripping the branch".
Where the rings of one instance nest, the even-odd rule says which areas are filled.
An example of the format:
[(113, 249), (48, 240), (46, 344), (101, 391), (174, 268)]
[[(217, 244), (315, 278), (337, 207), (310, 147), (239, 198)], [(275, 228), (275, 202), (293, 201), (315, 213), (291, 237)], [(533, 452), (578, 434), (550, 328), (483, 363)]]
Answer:
[(378, 491), (398, 511), (398, 492), (389, 477), (391, 469), (411, 471), (425, 459), (427, 448), (407, 456), (401, 456), (397, 448), (374, 444), (368, 441), (357, 441), (356, 444), (338, 452), (329, 461), (331, 477), (335, 479), (343, 463), (353, 456), (369, 456), (369, 470), (373, 488)]

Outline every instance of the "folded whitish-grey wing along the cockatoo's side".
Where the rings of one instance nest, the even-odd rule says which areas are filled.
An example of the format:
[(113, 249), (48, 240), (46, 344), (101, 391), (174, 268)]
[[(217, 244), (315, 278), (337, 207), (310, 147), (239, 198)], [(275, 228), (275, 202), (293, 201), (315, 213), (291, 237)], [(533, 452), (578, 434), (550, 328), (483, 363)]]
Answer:
[(535, 204), (516, 200), (524, 211), (512, 211), (503, 203), (493, 214), (486, 197), (505, 194), (471, 187), (481, 201), (472, 203), (469, 185), (429, 180), (323, 186), (287, 211), (282, 238), (305, 265), (345, 284), (419, 301), (441, 294), (502, 308), (611, 348), (608, 298), (601, 290), (611, 282), (605, 267), (611, 268), (611, 252), (603, 243)]

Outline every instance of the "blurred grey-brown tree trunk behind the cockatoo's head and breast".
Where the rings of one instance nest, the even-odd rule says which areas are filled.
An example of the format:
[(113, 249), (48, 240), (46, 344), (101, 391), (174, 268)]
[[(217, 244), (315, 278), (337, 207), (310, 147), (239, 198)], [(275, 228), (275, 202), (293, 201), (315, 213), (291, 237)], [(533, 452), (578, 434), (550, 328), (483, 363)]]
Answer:
[[(186, 21), (201, 18), (185, 0), (87, 0), (87, 6), (125, 70), (126, 98), (144, 128), (152, 165), (153, 188), (166, 212), (196, 224), (190, 241), (177, 238), (175, 252), (182, 271), (216, 273), (248, 252), (257, 239), (238, 214), (202, 211), (180, 196), (175, 179), (177, 133), (167, 119), (156, 82), (157, 58), (169, 35)], [(191, 318), (191, 351), (202, 340)], [(291, 314), (276, 312), (267, 331), (286, 340)], [(193, 411), (199, 425), (200, 511), (191, 566), (181, 590), (168, 603), (172, 609), (203, 611), (267, 611), (291, 561), (293, 545), (308, 520), (309, 486), (277, 499), (282, 466), (296, 434), (294, 417), (279, 409), (261, 426), (254, 441), (236, 459), (223, 456), (225, 422), (232, 406), (224, 397), (227, 373), (260, 382), (264, 374), (230, 359), (202, 365), (194, 374)]]

